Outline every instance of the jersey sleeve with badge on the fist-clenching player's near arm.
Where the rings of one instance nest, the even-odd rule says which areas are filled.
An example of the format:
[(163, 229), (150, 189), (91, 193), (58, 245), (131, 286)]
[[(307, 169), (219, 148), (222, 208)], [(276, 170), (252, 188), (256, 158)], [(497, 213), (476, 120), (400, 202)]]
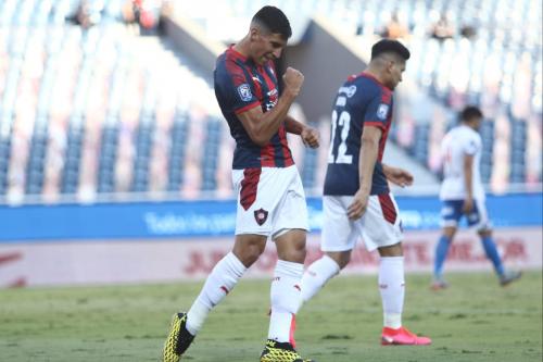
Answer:
[(236, 113), (243, 113), (252, 108), (261, 105), (255, 96), (254, 84), (247, 72), (235, 62), (226, 63), (226, 72), (223, 77), (225, 96), (230, 103), (230, 109)]

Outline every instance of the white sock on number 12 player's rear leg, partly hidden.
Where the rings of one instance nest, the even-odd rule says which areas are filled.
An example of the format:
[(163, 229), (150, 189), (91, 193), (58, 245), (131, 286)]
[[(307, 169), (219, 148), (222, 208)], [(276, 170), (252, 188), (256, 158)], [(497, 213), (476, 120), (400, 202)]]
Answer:
[(302, 277), (302, 302), (312, 299), (331, 277), (340, 272), (338, 263), (328, 257), (323, 255), (307, 267)]

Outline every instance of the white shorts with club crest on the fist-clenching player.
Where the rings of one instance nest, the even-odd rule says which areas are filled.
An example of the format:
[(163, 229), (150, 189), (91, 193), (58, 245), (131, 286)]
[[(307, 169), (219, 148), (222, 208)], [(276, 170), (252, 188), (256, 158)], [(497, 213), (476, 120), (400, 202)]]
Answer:
[(273, 239), (292, 228), (308, 230), (307, 204), (295, 165), (232, 171), (238, 195), (236, 235)]

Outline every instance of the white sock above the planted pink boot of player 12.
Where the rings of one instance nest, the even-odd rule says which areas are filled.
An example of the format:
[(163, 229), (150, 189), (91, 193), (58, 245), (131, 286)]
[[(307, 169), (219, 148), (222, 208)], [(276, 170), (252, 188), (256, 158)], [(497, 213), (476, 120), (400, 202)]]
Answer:
[(379, 290), (381, 291), (383, 325), (389, 328), (400, 328), (405, 296), (403, 257), (381, 258)]

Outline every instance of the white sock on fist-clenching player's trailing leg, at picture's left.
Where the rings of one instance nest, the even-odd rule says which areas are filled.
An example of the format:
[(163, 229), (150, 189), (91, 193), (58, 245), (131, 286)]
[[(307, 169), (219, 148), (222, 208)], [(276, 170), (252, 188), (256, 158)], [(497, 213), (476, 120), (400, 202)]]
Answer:
[(191, 335), (197, 335), (207, 313), (232, 290), (245, 271), (245, 265), (231, 251), (213, 267), (202, 291), (187, 313), (187, 330)]

